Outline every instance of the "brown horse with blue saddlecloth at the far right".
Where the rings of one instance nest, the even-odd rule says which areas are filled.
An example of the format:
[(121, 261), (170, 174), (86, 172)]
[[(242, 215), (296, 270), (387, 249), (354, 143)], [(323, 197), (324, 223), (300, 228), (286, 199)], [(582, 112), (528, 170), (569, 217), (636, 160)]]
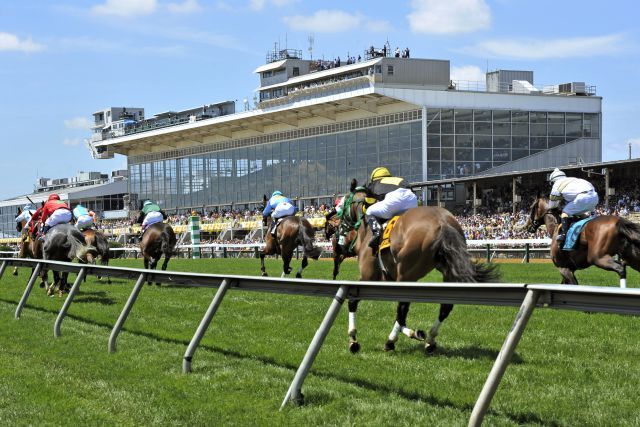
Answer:
[[(595, 265), (615, 271), (620, 277), (620, 286), (626, 287), (626, 266), (640, 271), (640, 226), (624, 218), (602, 215), (586, 223), (575, 250), (565, 251), (556, 241), (559, 213), (558, 209), (549, 209), (546, 198), (538, 197), (531, 205), (525, 227), (533, 233), (545, 224), (551, 237), (551, 259), (560, 270), (562, 283), (577, 285), (575, 271)], [(613, 259), (615, 255), (621, 261)]]

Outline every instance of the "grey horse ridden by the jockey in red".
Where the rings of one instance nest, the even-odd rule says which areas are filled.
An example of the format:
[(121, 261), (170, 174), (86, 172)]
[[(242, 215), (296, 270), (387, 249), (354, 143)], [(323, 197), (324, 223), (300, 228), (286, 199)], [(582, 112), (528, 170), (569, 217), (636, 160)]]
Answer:
[[(97, 254), (96, 248), (88, 246), (84, 235), (71, 224), (58, 224), (51, 228), (45, 236), (42, 251), (45, 260), (71, 262), (78, 258), (83, 263), (87, 262), (88, 257), (95, 257)], [(46, 277), (46, 272), (44, 275)], [(56, 287), (59, 296), (68, 291), (68, 276), (68, 272), (54, 270), (53, 283), (47, 286), (47, 295), (53, 295)]]

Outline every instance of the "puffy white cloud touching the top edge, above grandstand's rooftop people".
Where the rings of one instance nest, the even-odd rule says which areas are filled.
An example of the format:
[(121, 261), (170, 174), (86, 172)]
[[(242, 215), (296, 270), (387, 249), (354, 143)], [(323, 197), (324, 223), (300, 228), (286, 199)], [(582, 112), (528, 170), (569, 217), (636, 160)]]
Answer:
[(485, 0), (412, 0), (411, 7), (407, 19), (414, 33), (471, 33), (491, 26)]

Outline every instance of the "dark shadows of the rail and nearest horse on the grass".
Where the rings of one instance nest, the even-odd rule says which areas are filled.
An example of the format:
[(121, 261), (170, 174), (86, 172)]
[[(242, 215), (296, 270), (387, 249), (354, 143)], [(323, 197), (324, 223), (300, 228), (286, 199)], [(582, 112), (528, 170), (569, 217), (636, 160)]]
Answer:
[[(4, 303), (8, 303), (8, 304), (17, 304), (16, 301), (11, 301), (11, 300), (6, 300), (6, 299), (2, 299), (0, 298), (0, 302), (4, 302)], [(58, 314), (57, 310), (50, 310), (50, 309), (46, 309), (46, 308), (42, 308), (42, 307), (34, 307), (32, 305), (26, 304), (25, 308), (29, 308), (32, 309), (34, 311), (38, 311), (41, 313), (47, 313), (47, 314)], [(72, 315), (72, 314), (67, 314), (68, 318), (77, 320), (79, 322), (83, 322), (86, 324), (90, 324), (93, 326), (98, 326), (98, 327), (102, 327), (108, 330), (111, 330), (113, 328), (112, 325), (107, 324), (107, 323), (102, 323), (102, 322), (97, 322), (95, 320), (91, 320), (88, 319), (86, 317), (81, 317), (81, 316), (76, 316), (76, 315)], [(160, 337), (157, 335), (154, 335), (150, 332), (143, 332), (143, 331), (132, 331), (129, 330), (127, 328), (122, 328), (122, 331), (124, 332), (128, 332), (132, 335), (135, 336), (140, 336), (140, 337), (145, 337), (148, 339), (152, 339), (158, 342), (162, 342), (162, 343), (166, 343), (166, 344), (172, 344), (172, 345), (182, 345), (186, 347), (189, 345), (189, 341), (188, 340), (179, 340), (179, 339), (175, 339), (175, 338), (167, 338), (167, 337)], [(234, 350), (228, 350), (228, 349), (224, 349), (221, 347), (217, 347), (217, 346), (211, 346), (211, 345), (204, 345), (201, 344), (198, 346), (198, 349), (202, 352), (202, 351), (209, 351), (209, 352), (213, 352), (213, 353), (217, 353), (217, 354), (221, 354), (223, 356), (226, 357), (233, 357), (236, 359), (241, 359), (241, 360), (250, 360), (253, 362), (259, 362), (262, 365), (266, 365), (266, 366), (276, 366), (279, 368), (284, 368), (284, 369), (288, 369), (291, 370), (293, 372), (297, 371), (298, 366), (297, 365), (292, 365), (292, 364), (288, 364), (288, 363), (283, 363), (282, 361), (276, 360), (274, 358), (271, 357), (266, 357), (266, 356), (260, 356), (260, 355), (256, 355), (256, 354), (248, 354), (248, 353), (241, 353), (238, 351), (234, 351)], [(497, 357), (498, 352), (491, 352), (490, 350), (482, 350), (481, 352), (483, 352), (484, 354), (489, 354), (492, 353), (494, 354), (494, 356)], [(414, 350), (415, 351), (415, 350)], [(471, 352), (477, 352), (478, 349), (476, 347), (472, 347), (470, 349), (462, 349), (462, 352), (467, 352), (467, 351), (471, 351)], [(458, 350), (451, 350), (451, 353), (449, 353), (449, 355), (458, 352)], [(446, 350), (443, 351), (444, 355), (447, 355)], [(437, 355), (440, 353), (437, 353), (435, 355), (435, 357), (437, 357)], [(452, 357), (452, 356), (449, 356)], [(460, 357), (460, 356), (456, 356), (456, 357)], [(472, 357), (472, 358), (477, 358), (477, 357)], [(494, 357), (495, 358), (495, 357)], [(521, 359), (520, 359), (521, 360)], [(344, 376), (344, 375), (339, 375), (339, 374), (335, 374), (335, 373), (327, 373), (327, 372), (318, 372), (318, 371), (314, 371), (313, 374), (318, 377), (318, 378), (322, 378), (322, 379), (330, 379), (330, 380), (334, 380), (334, 381), (339, 381), (345, 384), (350, 384), (350, 385), (356, 385), (360, 388), (366, 389), (368, 391), (372, 391), (372, 392), (377, 392), (377, 393), (384, 393), (384, 394), (396, 394), (400, 397), (402, 397), (405, 400), (409, 400), (409, 401), (414, 401), (414, 402), (425, 402), (429, 405), (434, 405), (434, 406), (438, 406), (438, 407), (446, 407), (446, 408), (451, 408), (460, 412), (468, 412), (471, 413), (472, 409), (473, 409), (473, 404), (459, 404), (459, 403), (455, 403), (450, 399), (442, 399), (442, 398), (438, 398), (435, 397), (433, 395), (429, 395), (429, 394), (425, 394), (425, 393), (419, 393), (419, 392), (415, 392), (415, 391), (407, 391), (407, 390), (403, 390), (401, 388), (396, 388), (396, 387), (390, 387), (388, 385), (385, 384), (381, 384), (381, 383), (375, 383), (363, 378), (353, 378), (353, 377), (348, 377), (348, 376)], [(293, 374), (292, 374), (292, 378), (293, 378)], [(333, 397), (331, 397), (328, 394), (312, 394), (310, 396), (306, 396), (305, 397), (305, 403), (307, 405), (311, 404), (311, 405), (322, 405), (322, 404), (327, 404), (329, 402), (331, 402), (333, 400)], [(510, 421), (514, 422), (514, 423), (518, 423), (518, 424), (522, 424), (522, 423), (535, 423), (535, 424), (544, 424), (544, 425), (550, 425), (550, 426), (557, 426), (559, 425), (559, 423), (555, 420), (545, 420), (540, 418), (538, 415), (533, 414), (531, 412), (525, 412), (525, 413), (503, 413), (503, 412), (496, 412), (493, 411), (491, 409), (489, 409), (487, 411), (487, 414), (489, 415), (494, 415), (494, 416), (503, 416), (508, 418)]]

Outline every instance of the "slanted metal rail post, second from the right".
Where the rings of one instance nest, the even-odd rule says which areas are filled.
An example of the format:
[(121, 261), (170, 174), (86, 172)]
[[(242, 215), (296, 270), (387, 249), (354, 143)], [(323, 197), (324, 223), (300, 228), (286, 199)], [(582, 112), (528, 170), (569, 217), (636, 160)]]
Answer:
[(331, 301), (327, 314), (324, 315), (324, 319), (316, 331), (316, 334), (313, 336), (313, 340), (307, 349), (307, 353), (304, 355), (302, 363), (300, 363), (300, 366), (296, 371), (293, 382), (289, 386), (289, 390), (287, 390), (287, 394), (282, 401), (280, 410), (284, 408), (284, 405), (286, 405), (289, 400), (292, 400), (295, 403), (302, 402), (302, 383), (307, 377), (307, 374), (311, 369), (311, 365), (313, 365), (313, 361), (320, 352), (320, 348), (322, 347), (327, 334), (329, 334), (331, 325), (333, 325), (334, 320), (336, 320), (336, 317), (338, 316), (338, 312), (340, 311), (340, 307), (342, 307), (342, 303), (344, 303), (348, 289), (349, 287), (346, 285), (342, 285), (338, 288), (338, 292), (336, 292), (336, 295), (333, 297), (333, 301)]

